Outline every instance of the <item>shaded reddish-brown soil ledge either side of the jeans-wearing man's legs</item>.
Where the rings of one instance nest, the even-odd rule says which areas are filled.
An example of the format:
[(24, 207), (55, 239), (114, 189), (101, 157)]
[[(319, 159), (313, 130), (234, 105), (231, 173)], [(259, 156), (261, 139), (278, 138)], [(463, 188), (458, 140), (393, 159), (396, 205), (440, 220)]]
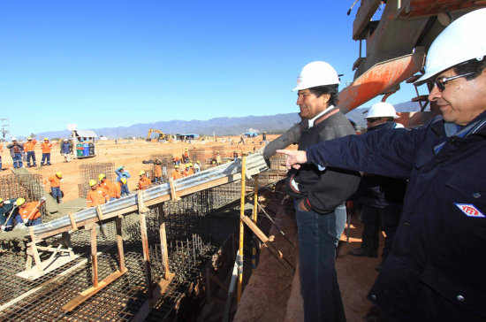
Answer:
[[(292, 204), (286, 204), (278, 208), (277, 222), (292, 243), (298, 245)], [(361, 232), (361, 222), (353, 217), (349, 227), (349, 243), (346, 243), (345, 229), (336, 259), (338, 282), (348, 322), (364, 321), (371, 309), (372, 304), (366, 300), (366, 295), (378, 275), (375, 265), (381, 261), (381, 257), (353, 257), (348, 254), (349, 249), (361, 245)], [(292, 249), (274, 227), (270, 229), (270, 234), (275, 235), (274, 244), (282, 251), (284, 257), (298, 266), (298, 248)], [(383, 238), (380, 241), (379, 254), (382, 249)], [(298, 267), (295, 274), (292, 274), (279, 264), (270, 251), (262, 249), (259, 266), (248, 281), (234, 320), (303, 321), (302, 305)]]

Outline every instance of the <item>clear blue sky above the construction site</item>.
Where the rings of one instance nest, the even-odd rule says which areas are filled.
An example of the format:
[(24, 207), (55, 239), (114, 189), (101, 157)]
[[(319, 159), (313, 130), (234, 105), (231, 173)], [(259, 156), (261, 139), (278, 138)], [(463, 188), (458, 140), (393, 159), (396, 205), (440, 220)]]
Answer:
[(297, 112), (291, 89), (308, 62), (353, 80), (352, 3), (2, 2), (0, 118), (21, 136)]

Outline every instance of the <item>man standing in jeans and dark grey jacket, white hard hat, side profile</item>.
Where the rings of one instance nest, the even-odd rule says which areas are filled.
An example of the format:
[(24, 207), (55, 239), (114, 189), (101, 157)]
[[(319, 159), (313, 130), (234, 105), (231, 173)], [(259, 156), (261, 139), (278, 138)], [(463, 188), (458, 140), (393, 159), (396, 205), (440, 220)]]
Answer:
[[(305, 65), (297, 80), (297, 105), (308, 126), (299, 149), (355, 134), (336, 107), (338, 73), (315, 61)], [(336, 247), (346, 225), (346, 199), (358, 188), (360, 174), (333, 167), (303, 165), (288, 173), (286, 192), (295, 200), (299, 230), (300, 286), (305, 321), (346, 320), (334, 267)]]

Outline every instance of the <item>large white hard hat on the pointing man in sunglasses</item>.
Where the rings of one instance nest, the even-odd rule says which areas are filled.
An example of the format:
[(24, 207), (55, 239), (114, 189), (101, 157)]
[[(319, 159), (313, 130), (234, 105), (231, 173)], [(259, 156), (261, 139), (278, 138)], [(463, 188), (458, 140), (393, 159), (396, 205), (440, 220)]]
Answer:
[(469, 12), (452, 22), (432, 42), (425, 61), (425, 73), (415, 81), (421, 85), (437, 73), (459, 63), (486, 55), (486, 8)]

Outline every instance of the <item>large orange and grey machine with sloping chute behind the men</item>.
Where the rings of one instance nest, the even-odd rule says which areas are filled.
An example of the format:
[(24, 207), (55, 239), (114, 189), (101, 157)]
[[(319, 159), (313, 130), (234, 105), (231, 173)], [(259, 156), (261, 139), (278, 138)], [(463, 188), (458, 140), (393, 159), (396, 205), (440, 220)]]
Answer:
[[(360, 50), (353, 63), (353, 83), (339, 92), (340, 111), (346, 114), (376, 96), (383, 95), (384, 102), (403, 81), (418, 80), (424, 73), (427, 50), (437, 35), (455, 19), (482, 7), (486, 7), (486, 0), (361, 0), (353, 21), (353, 40), (360, 42)], [(379, 11), (381, 18), (373, 19)], [(425, 124), (440, 113), (434, 103), (425, 111), (429, 93), (420, 95), (418, 88), (415, 91), (417, 96), (411, 100), (420, 103), (421, 111), (399, 113), (397, 121), (406, 127)], [(277, 149), (297, 142), (306, 127), (307, 120), (302, 119), (266, 145), (263, 157), (269, 158)]]

